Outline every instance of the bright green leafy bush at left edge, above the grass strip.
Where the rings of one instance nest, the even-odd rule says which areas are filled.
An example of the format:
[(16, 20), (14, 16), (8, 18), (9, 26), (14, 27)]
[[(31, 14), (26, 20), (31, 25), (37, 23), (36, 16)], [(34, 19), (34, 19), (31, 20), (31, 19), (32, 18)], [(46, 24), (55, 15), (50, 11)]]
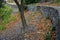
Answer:
[(2, 18), (2, 23), (8, 22), (8, 18), (10, 17), (11, 12), (12, 9), (7, 5), (4, 5), (2, 8), (0, 8), (0, 17)]

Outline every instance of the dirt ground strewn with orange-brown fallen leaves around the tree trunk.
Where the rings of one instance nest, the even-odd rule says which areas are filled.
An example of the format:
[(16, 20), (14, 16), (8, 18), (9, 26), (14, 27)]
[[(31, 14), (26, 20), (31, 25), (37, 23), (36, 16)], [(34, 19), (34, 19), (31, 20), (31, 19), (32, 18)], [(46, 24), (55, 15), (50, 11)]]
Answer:
[[(7, 25), (5, 31), (0, 33), (0, 40), (22, 40), (21, 38), (21, 28), (22, 23), (19, 21), (19, 14), (17, 16), (17, 21), (13, 21)], [(45, 20), (40, 12), (26, 12), (25, 18), (27, 24), (29, 25), (27, 33), (24, 34), (26, 40), (44, 40), (45, 32), (48, 31), (50, 20)], [(45, 22), (46, 21), (46, 22)], [(46, 24), (46, 27), (44, 26)], [(42, 39), (43, 38), (43, 39)]]

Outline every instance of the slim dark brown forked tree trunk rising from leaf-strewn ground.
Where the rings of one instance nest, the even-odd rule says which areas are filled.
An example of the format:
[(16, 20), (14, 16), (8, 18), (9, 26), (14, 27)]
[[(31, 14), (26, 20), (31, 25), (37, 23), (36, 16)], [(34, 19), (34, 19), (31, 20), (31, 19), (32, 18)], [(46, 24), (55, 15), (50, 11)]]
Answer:
[(25, 27), (27, 27), (27, 23), (26, 23), (25, 16), (24, 16), (24, 3), (23, 3), (23, 0), (21, 0), (21, 4), (19, 4), (19, 2), (17, 0), (14, 0), (14, 1), (15, 1), (15, 3), (17, 4), (17, 6), (19, 8), (22, 25), (23, 25), (23, 28), (25, 29)]

